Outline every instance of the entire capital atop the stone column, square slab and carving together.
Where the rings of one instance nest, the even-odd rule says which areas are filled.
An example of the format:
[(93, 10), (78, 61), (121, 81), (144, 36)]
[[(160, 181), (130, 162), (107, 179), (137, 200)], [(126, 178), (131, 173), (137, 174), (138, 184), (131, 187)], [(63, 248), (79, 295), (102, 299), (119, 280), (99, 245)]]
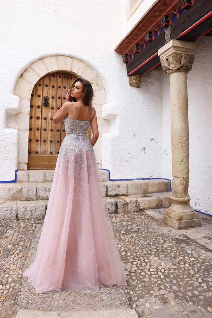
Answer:
[(188, 73), (194, 62), (196, 44), (172, 39), (158, 50), (163, 71), (170, 74), (175, 71)]

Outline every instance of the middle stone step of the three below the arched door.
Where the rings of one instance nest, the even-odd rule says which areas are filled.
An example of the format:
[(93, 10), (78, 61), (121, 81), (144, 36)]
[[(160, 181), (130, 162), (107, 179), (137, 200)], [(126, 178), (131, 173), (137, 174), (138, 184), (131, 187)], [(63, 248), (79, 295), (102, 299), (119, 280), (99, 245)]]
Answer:
[[(0, 183), (0, 200), (48, 200), (51, 185), (51, 182)], [(165, 179), (103, 181), (102, 186), (106, 197), (170, 191), (170, 181)]]

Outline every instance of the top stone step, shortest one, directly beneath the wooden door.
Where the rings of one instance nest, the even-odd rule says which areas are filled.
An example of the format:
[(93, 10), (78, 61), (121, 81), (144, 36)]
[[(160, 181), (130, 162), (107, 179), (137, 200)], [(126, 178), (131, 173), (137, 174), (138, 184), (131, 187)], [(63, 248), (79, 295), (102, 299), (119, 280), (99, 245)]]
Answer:
[[(18, 170), (17, 182), (52, 182), (54, 176), (54, 169), (32, 169), (32, 170)], [(109, 179), (108, 171), (99, 169), (102, 176), (102, 181)]]

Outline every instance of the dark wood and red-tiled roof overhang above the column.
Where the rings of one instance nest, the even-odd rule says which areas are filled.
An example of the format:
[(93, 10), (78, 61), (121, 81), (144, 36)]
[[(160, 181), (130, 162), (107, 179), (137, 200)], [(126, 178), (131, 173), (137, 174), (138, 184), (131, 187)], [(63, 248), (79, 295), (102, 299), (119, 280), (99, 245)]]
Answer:
[(127, 76), (138, 78), (161, 64), (158, 50), (171, 39), (195, 42), (211, 35), (211, 0), (157, 0), (114, 51), (122, 55)]

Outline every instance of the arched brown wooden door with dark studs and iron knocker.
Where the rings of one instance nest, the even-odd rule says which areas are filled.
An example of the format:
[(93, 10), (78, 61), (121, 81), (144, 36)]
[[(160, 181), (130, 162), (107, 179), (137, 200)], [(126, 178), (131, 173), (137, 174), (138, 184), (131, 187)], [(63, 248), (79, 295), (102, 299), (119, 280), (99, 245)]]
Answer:
[[(30, 101), (30, 124), (27, 169), (55, 169), (65, 126), (53, 124), (52, 117), (65, 102), (75, 76), (69, 73), (50, 73), (38, 80)], [(87, 137), (91, 140), (91, 126)]]

